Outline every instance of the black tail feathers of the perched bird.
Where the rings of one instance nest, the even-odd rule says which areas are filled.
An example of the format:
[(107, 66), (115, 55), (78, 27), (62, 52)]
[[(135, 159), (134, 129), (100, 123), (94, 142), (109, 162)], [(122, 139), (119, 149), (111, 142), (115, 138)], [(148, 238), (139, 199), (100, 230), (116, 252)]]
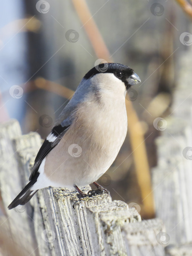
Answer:
[[(39, 174), (39, 173), (38, 173)], [(20, 205), (24, 205), (27, 202), (29, 202), (29, 200), (31, 199), (31, 197), (33, 197), (35, 195), (35, 193), (38, 191), (37, 190), (30, 190), (30, 188), (34, 185), (34, 183), (37, 181), (37, 177), (35, 177), (33, 180), (31, 180), (26, 186), (25, 188), (23, 188), (23, 190), (19, 193), (18, 196), (15, 197), (15, 199), (10, 203), (10, 205), (8, 206), (8, 209), (11, 210), (12, 208), (15, 208), (16, 206)]]

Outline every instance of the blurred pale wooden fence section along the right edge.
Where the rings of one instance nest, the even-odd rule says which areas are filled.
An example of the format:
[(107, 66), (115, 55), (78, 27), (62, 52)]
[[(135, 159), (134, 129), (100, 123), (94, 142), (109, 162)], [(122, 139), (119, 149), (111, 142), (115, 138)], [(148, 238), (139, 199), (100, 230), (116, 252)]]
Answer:
[[(167, 255), (192, 255), (192, 92), (190, 50), (181, 71), (167, 125), (157, 139), (158, 165), (153, 170), (156, 215), (170, 237)], [(192, 52), (191, 52), (192, 53)]]

